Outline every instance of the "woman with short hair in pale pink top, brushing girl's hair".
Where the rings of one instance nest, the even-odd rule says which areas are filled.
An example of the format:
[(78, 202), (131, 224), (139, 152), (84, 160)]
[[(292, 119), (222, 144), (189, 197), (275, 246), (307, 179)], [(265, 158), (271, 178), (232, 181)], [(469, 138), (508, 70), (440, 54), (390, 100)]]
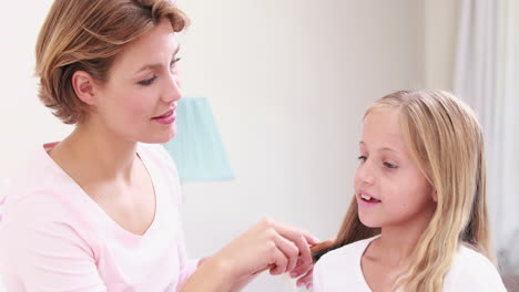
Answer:
[(8, 291), (235, 291), (258, 271), (311, 284), (301, 230), (265, 219), (186, 260), (176, 169), (157, 145), (181, 98), (167, 0), (55, 0), (37, 43), (40, 98), (72, 134), (14, 179), (0, 229)]

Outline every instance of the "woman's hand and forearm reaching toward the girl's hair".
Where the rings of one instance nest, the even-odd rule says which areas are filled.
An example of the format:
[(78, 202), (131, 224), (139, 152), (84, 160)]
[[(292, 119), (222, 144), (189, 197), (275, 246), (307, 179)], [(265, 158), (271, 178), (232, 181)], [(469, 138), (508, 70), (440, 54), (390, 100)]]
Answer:
[[(309, 246), (315, 243), (317, 240), (308, 232), (267, 218), (207, 259), (199, 272), (218, 279), (221, 289), (211, 291), (237, 291), (265, 269), (271, 274), (288, 272), (293, 278), (303, 275), (298, 283), (307, 285), (312, 281), (313, 268)], [(203, 278), (196, 274), (194, 278)]]

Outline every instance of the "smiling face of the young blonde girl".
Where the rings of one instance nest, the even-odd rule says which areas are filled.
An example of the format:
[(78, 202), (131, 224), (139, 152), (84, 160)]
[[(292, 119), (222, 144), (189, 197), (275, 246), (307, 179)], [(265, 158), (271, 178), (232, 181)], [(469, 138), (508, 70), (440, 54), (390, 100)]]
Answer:
[(404, 226), (430, 220), (434, 190), (410, 157), (397, 109), (369, 113), (359, 143), (355, 194), (360, 221), (368, 227)]

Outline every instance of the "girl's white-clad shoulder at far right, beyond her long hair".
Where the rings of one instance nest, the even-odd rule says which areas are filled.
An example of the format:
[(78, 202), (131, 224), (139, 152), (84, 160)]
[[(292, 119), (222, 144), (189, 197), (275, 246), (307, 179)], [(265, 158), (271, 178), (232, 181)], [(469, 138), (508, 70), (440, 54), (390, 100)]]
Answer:
[(460, 244), (445, 278), (446, 291), (507, 291), (496, 265), (482, 253)]

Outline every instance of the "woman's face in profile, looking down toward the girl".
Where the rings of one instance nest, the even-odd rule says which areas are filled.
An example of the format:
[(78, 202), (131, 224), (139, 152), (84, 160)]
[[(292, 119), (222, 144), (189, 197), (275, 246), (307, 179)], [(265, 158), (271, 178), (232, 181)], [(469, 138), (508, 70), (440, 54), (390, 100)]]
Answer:
[(179, 43), (166, 20), (126, 44), (106, 82), (95, 85), (91, 117), (128, 140), (170, 140), (176, 133), (175, 107), (181, 98), (177, 52)]

